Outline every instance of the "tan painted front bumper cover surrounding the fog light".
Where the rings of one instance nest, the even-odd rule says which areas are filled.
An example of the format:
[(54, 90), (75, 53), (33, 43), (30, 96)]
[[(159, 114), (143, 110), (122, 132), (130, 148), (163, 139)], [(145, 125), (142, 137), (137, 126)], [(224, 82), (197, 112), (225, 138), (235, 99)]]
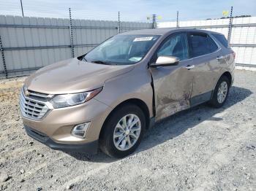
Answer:
[[(48, 136), (58, 144), (87, 144), (99, 139), (102, 125), (111, 112), (111, 108), (101, 102), (90, 101), (61, 109), (51, 109), (42, 119), (34, 120), (23, 116), (23, 125)], [(75, 125), (91, 122), (86, 131), (86, 138), (72, 136)]]

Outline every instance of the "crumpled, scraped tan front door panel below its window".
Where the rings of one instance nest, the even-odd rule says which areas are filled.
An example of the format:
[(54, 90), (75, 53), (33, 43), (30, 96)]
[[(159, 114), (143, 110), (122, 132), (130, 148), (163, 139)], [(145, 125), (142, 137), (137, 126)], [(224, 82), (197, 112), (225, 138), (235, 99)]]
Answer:
[(178, 66), (151, 69), (154, 82), (156, 120), (189, 108), (193, 90), (192, 73), (185, 68), (190, 61)]

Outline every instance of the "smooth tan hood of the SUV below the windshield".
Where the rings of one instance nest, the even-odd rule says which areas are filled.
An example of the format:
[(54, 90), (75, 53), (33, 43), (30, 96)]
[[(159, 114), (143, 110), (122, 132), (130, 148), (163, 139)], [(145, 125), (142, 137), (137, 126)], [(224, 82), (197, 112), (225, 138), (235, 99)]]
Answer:
[(102, 87), (107, 79), (133, 68), (132, 65), (111, 66), (72, 58), (39, 69), (26, 79), (25, 85), (29, 90), (39, 93), (79, 93)]

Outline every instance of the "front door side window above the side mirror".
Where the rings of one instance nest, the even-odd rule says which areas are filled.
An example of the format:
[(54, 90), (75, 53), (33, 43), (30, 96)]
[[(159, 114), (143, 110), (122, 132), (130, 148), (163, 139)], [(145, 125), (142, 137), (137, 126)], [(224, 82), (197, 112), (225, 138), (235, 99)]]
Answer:
[(170, 36), (157, 51), (157, 58), (162, 55), (176, 56), (180, 61), (188, 59), (187, 35), (181, 33)]

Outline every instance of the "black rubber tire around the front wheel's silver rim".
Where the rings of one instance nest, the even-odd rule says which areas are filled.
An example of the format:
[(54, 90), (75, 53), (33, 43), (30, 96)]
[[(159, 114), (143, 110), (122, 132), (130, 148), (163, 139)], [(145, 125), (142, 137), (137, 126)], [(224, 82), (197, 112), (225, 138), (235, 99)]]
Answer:
[[(117, 149), (114, 144), (113, 133), (119, 120), (121, 120), (121, 118), (126, 116), (127, 114), (135, 114), (140, 119), (140, 135), (138, 140), (131, 148), (125, 151), (121, 151), (120, 149)], [(105, 152), (105, 154), (109, 155), (110, 157), (126, 157), (127, 155), (132, 154), (132, 152), (134, 152), (135, 149), (137, 149), (143, 137), (145, 129), (146, 118), (140, 107), (134, 104), (125, 104), (124, 106), (119, 107), (118, 109), (116, 109), (116, 111), (110, 114), (110, 117), (108, 117), (108, 121), (105, 122), (105, 126), (103, 127), (101, 135), (99, 137), (99, 148), (102, 150), (102, 152)]]

